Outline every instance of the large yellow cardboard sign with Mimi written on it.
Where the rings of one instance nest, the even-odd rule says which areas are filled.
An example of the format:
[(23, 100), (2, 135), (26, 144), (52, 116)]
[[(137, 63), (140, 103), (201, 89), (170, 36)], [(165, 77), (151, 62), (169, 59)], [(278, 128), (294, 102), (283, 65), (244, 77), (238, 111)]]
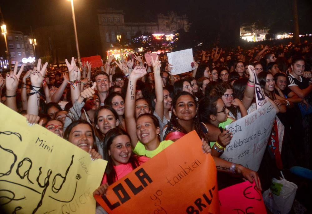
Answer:
[(95, 213), (107, 161), (0, 103), (0, 212)]

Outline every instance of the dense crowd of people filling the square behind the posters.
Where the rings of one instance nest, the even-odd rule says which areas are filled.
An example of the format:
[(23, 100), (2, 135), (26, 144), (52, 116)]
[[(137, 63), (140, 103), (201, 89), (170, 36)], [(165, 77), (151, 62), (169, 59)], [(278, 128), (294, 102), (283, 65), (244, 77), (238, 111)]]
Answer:
[[(109, 185), (193, 130), (202, 139), (198, 150), (224, 166), (218, 168), (219, 189), (245, 178), (262, 191), (280, 170), (312, 167), (311, 48), (303, 42), (196, 50), (195, 69), (179, 75), (171, 73), (166, 54), (152, 57), (151, 66), (144, 66), (140, 53), (118, 59), (108, 54), (100, 68), (90, 63), (80, 68), (74, 58), (66, 59), (67, 66), (48, 67), (39, 59), (32, 69), (15, 66), (2, 74), (1, 100), (29, 125), (39, 123), (92, 160), (108, 161), (94, 194), (105, 194)], [(256, 110), (252, 70), (285, 127), (281, 154), (266, 150), (258, 172), (219, 158), (232, 139), (225, 126)]]

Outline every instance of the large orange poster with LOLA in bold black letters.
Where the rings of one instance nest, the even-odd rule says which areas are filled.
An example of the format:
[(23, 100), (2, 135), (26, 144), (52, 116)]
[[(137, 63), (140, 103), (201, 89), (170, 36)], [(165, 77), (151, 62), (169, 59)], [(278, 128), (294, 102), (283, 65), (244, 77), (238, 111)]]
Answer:
[(111, 185), (96, 201), (110, 213), (219, 213), (216, 165), (192, 131)]

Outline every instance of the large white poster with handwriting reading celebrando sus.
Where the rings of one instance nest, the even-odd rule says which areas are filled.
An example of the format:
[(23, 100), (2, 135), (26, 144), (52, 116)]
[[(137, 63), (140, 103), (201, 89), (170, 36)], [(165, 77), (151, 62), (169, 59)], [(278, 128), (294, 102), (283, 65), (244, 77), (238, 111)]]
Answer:
[(271, 136), (276, 110), (266, 102), (256, 111), (226, 126), (233, 138), (221, 158), (258, 171)]

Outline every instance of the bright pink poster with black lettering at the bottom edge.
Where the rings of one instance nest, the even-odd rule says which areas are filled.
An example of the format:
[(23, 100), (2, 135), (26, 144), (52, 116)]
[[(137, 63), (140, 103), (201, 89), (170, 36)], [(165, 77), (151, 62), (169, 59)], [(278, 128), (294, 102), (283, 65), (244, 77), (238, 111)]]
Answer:
[(245, 181), (219, 191), (221, 214), (265, 214), (261, 191)]

